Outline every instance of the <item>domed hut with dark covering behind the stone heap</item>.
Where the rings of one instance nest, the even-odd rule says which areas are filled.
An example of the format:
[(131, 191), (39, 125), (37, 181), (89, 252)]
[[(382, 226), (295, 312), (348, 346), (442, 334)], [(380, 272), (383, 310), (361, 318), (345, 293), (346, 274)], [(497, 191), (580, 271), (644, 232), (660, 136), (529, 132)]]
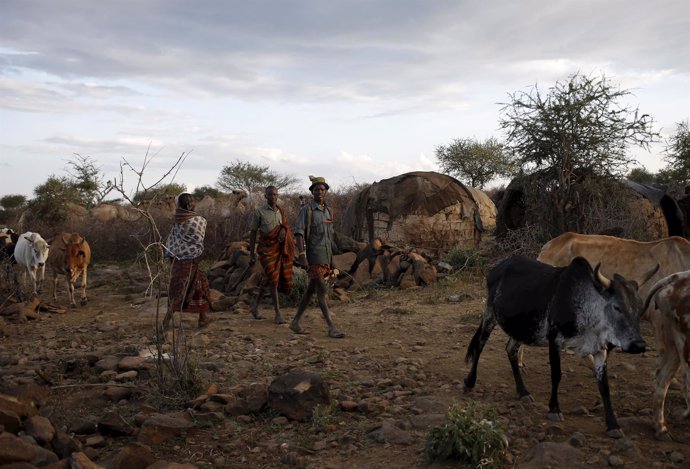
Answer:
[(451, 176), (415, 171), (360, 191), (342, 220), (343, 232), (354, 239), (441, 252), (476, 246), (495, 228), (496, 206)]

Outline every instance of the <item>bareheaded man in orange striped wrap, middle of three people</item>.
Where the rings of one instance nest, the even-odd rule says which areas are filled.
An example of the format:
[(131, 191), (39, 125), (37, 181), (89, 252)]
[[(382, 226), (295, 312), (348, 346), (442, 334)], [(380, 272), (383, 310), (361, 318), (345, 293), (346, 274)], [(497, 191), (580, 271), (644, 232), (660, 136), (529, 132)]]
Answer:
[(254, 211), (249, 235), (249, 263), (256, 262), (256, 246), (258, 235), (259, 262), (266, 274), (251, 305), (251, 313), (254, 319), (261, 319), (259, 303), (265, 289), (270, 289), (271, 299), (276, 324), (284, 324), (285, 320), (280, 314), (278, 291), (288, 293), (292, 288), (292, 259), (295, 257), (295, 241), (292, 231), (287, 224), (283, 209), (277, 204), (278, 189), (268, 186), (264, 193), (266, 204)]

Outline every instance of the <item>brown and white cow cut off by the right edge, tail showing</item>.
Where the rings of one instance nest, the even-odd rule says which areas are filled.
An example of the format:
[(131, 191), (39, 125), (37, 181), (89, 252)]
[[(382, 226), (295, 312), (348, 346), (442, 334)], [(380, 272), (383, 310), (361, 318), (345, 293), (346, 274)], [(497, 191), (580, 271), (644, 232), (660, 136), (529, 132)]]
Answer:
[(656, 437), (669, 440), (664, 420), (664, 401), (671, 380), (683, 370), (683, 388), (687, 408), (683, 418), (690, 416), (690, 270), (662, 278), (650, 290), (644, 308), (654, 302), (657, 311), (651, 314), (659, 349), (659, 365), (654, 387), (654, 422)]

